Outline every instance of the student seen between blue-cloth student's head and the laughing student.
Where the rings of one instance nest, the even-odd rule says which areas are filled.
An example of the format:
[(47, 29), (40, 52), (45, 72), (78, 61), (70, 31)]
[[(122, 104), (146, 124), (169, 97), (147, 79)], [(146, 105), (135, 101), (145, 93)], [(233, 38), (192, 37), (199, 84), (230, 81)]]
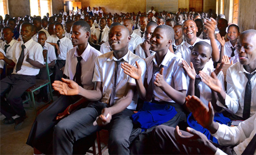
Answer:
[(182, 25), (175, 25), (173, 27), (174, 30), (174, 42), (172, 42), (172, 48), (175, 52), (178, 46), (183, 45), (185, 43), (183, 39), (183, 33), (182, 33)]

